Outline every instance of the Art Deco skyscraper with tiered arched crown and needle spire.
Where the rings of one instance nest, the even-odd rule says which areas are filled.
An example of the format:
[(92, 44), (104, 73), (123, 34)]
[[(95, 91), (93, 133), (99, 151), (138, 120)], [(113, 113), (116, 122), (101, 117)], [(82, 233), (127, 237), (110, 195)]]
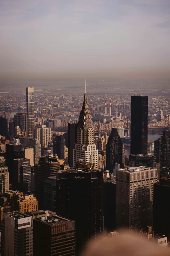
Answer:
[(98, 167), (98, 150), (94, 144), (94, 130), (92, 125), (92, 116), (87, 103), (85, 77), (84, 101), (78, 118), (77, 144), (73, 153), (74, 167), (76, 167), (76, 162), (80, 159), (95, 164), (96, 168)]

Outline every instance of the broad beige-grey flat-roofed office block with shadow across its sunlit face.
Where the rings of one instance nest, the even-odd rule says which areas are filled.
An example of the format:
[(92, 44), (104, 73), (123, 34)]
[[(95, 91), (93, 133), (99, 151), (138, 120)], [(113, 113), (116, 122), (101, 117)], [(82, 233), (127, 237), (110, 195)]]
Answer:
[(153, 184), (157, 169), (145, 166), (116, 171), (116, 228), (129, 231), (153, 225)]

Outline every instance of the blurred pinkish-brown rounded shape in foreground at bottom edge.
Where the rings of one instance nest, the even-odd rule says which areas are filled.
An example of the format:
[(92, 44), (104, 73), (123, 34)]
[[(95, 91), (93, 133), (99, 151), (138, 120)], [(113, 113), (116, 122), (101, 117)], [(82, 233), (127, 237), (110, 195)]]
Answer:
[(170, 250), (124, 232), (114, 238), (93, 241), (83, 256), (168, 256)]

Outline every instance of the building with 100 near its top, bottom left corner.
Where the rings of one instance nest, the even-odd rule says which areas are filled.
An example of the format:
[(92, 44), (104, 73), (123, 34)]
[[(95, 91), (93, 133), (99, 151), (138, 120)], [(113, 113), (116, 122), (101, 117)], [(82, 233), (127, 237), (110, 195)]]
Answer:
[(1, 244), (3, 256), (33, 256), (33, 217), (17, 211), (5, 213)]

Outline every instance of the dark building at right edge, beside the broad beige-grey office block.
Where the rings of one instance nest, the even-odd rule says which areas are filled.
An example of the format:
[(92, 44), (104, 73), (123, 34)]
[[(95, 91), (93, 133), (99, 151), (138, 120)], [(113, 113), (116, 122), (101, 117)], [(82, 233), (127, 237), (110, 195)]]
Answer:
[(164, 234), (170, 241), (170, 178), (160, 179), (153, 187), (153, 231)]

